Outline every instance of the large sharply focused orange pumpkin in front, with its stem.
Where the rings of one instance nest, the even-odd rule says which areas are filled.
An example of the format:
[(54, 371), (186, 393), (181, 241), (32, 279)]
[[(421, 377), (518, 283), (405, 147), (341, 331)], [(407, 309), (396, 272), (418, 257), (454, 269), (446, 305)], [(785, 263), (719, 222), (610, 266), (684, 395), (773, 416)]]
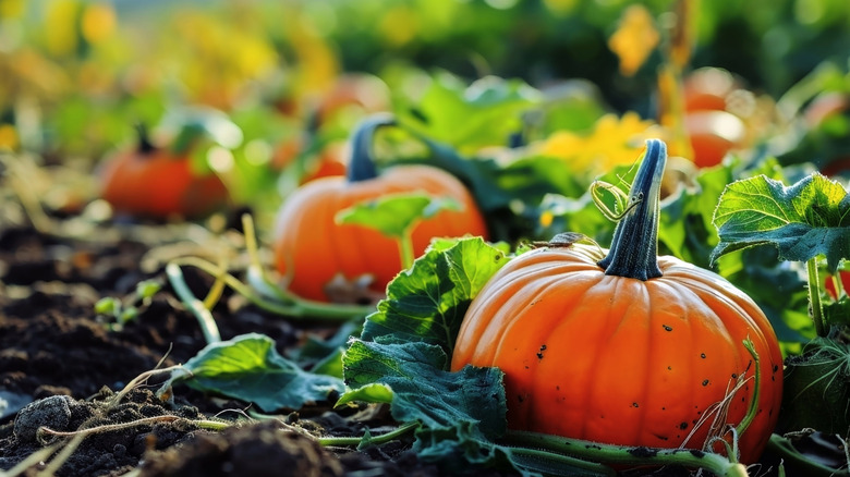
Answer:
[[(610, 250), (582, 244), (512, 259), (471, 304), (451, 369), (505, 371), (508, 425), (596, 442), (703, 448), (712, 409), (738, 425), (753, 396), (757, 414), (740, 438), (756, 460), (776, 426), (782, 356), (755, 303), (719, 276), (657, 257), (658, 194), (666, 146), (647, 142)], [(736, 382), (745, 376), (738, 389)], [(727, 436), (728, 438), (728, 436)]]

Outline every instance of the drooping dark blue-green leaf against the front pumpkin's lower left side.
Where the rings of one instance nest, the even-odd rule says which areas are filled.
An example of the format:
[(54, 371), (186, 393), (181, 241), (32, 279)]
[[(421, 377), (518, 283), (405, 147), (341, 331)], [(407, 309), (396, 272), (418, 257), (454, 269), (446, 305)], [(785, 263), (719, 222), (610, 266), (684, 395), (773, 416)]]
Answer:
[(538, 454), (496, 443), (507, 428), (502, 372), (498, 368), (465, 366), (446, 371), (441, 347), (423, 342), (353, 340), (343, 358), (347, 384), (354, 389), (340, 403), (390, 403), (392, 417), (417, 421), (413, 451), (423, 462), (447, 475), (470, 472), (470, 466), (510, 468), (520, 475), (546, 473), (595, 476), (583, 466), (549, 463)]

